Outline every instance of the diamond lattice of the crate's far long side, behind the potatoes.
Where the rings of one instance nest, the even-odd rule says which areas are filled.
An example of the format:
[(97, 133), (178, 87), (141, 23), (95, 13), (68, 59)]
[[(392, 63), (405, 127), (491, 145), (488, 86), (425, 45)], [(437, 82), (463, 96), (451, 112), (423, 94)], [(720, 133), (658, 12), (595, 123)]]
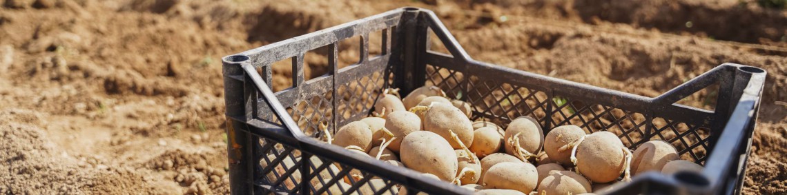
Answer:
[[(701, 125), (656, 117), (649, 120), (648, 127), (648, 118), (640, 112), (560, 96), (549, 98), (544, 91), (502, 83), (494, 78), (467, 77), (462, 72), (432, 65), (427, 65), (427, 86), (440, 87), (449, 98), (466, 95), (466, 101), (474, 110), (471, 120), (488, 120), (505, 127), (516, 117), (530, 116), (538, 120), (541, 127), (546, 127), (547, 116), (551, 114), (549, 127), (576, 125), (588, 134), (610, 131), (630, 149), (649, 140), (663, 140), (673, 145), (683, 160), (698, 164), (703, 164), (707, 157), (710, 131)], [(645, 139), (648, 130), (652, 131), (649, 140)]]

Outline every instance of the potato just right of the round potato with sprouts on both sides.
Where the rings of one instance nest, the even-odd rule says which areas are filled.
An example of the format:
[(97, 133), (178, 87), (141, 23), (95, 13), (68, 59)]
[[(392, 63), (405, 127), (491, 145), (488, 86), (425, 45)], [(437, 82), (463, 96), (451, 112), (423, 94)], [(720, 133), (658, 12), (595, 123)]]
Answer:
[(652, 140), (645, 142), (634, 150), (631, 160), (631, 175), (645, 171), (661, 171), (667, 162), (678, 160), (678, 151), (667, 142)]

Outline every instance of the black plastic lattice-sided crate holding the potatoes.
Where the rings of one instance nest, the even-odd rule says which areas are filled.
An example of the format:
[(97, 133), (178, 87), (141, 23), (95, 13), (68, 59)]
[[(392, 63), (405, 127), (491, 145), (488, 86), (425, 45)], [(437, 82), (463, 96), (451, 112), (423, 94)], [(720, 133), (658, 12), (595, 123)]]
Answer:
[[(375, 31), (382, 31), (382, 50), (370, 57), (369, 37)], [(430, 50), (430, 32), (449, 53)], [(338, 42), (355, 36), (362, 38), (360, 62), (338, 68)], [(304, 81), (304, 55), (320, 47), (327, 47), (329, 71)], [(273, 93), (272, 63), (287, 59), (294, 84)], [(740, 193), (765, 75), (760, 68), (721, 64), (647, 98), (475, 61), (430, 10), (394, 9), (224, 57), (231, 190), (384, 194), (401, 186), (408, 192), (471, 193), (316, 139), (323, 136), (317, 131), (320, 123), (334, 130), (369, 116), (382, 89), (399, 88), (404, 97), (431, 85), (470, 103), (471, 120), (483, 117), (505, 125), (517, 116), (533, 116), (545, 131), (564, 124), (611, 131), (630, 149), (665, 140), (682, 159), (705, 167), (701, 175), (637, 175), (609, 193)], [(713, 84), (719, 85), (715, 110), (675, 103)], [(347, 177), (351, 171), (364, 178)], [(372, 176), (384, 182), (368, 182)], [(342, 180), (351, 186), (336, 184)]]

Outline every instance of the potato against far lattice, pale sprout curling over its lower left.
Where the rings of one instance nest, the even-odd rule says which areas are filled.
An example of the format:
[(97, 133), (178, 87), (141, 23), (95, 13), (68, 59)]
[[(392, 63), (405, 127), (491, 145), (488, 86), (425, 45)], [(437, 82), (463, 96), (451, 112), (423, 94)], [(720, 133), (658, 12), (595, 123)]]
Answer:
[[(544, 131), (541, 131), (541, 125), (532, 117), (519, 116), (519, 118), (508, 123), (503, 140), (508, 141), (515, 134), (519, 134), (519, 147), (534, 154), (538, 154), (541, 151), (541, 146), (544, 144)], [(514, 155), (512, 146), (509, 142), (505, 142), (505, 153)]]

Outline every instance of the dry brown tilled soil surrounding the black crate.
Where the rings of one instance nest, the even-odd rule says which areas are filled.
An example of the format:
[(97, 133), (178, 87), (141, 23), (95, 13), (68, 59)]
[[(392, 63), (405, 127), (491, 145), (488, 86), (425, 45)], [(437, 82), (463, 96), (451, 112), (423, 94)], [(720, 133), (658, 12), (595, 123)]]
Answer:
[(477, 60), (648, 97), (725, 62), (765, 68), (744, 192), (787, 193), (787, 12), (754, 3), (0, 2), (0, 194), (227, 193), (219, 57), (401, 6), (433, 9)]

